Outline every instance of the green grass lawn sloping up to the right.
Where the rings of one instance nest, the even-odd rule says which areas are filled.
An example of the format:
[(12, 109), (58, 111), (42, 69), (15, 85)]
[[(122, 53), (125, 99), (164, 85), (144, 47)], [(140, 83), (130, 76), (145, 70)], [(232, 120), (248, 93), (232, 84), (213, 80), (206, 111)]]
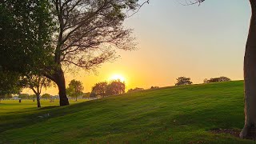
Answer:
[[(216, 128), (241, 130), (243, 82), (145, 90), (59, 107), (0, 104), (0, 143), (254, 143)], [(39, 118), (44, 114), (50, 117)]]

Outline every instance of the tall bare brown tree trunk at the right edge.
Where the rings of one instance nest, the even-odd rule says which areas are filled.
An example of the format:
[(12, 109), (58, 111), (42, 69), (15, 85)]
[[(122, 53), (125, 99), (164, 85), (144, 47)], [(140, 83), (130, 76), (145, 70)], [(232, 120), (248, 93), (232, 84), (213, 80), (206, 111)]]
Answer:
[(241, 138), (256, 139), (256, 0), (250, 0), (252, 16), (244, 57), (245, 126)]

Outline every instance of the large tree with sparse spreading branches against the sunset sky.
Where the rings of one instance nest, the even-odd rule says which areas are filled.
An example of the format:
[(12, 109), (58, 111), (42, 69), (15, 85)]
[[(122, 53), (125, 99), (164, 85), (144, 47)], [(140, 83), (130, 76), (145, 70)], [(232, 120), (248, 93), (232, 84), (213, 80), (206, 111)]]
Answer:
[(69, 105), (63, 66), (85, 70), (115, 57), (114, 48), (133, 50), (131, 30), (123, 22), (140, 6), (138, 0), (51, 0), (56, 23), (54, 33), (54, 66), (44, 75), (59, 90), (60, 106)]

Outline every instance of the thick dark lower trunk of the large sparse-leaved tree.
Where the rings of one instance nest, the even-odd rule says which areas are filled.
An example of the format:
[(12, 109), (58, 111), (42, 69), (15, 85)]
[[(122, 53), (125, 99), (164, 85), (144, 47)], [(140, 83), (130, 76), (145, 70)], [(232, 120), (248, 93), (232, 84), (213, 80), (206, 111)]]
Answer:
[(66, 83), (64, 78), (64, 73), (62, 69), (58, 70), (54, 74), (54, 82), (58, 86), (58, 94), (59, 94), (59, 104), (60, 106), (68, 106), (70, 105), (69, 99), (66, 97)]

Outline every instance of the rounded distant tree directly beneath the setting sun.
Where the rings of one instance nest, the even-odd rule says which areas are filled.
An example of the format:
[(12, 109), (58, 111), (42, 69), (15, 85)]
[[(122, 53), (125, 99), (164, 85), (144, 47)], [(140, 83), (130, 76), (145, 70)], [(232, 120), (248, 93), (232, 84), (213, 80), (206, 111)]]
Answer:
[(106, 87), (106, 95), (125, 93), (126, 84), (120, 80), (114, 80)]

